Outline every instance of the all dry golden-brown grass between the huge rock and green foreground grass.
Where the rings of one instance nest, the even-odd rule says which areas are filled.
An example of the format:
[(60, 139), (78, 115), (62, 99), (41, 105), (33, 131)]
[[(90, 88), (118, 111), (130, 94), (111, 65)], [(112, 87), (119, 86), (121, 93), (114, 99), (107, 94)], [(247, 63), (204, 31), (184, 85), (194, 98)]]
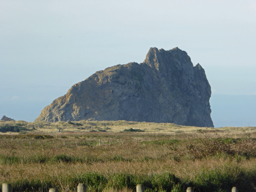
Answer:
[[(244, 142), (247, 148), (255, 150), (255, 127), (214, 129), (127, 121), (73, 123), (0, 121), (0, 126), (16, 125), (31, 130), (22, 134), (1, 133), (0, 182), (53, 180), (59, 189), (69, 192), (70, 180), (88, 172), (106, 177), (116, 173), (151, 175), (168, 172), (183, 183), (198, 180), (198, 176), (210, 171), (256, 173), (256, 156), (253, 154), (247, 157), (219, 152), (199, 158), (188, 149), (190, 145), (200, 149), (207, 139), (221, 138), (224, 141), (233, 138), (232, 141)], [(145, 132), (123, 132), (130, 128)], [(93, 130), (97, 132), (90, 132)], [(100, 132), (103, 130), (106, 132)], [(231, 146), (235, 150), (237, 145)], [(106, 192), (112, 190), (115, 191), (104, 188)], [(121, 191), (131, 192), (132, 189), (124, 186)]]

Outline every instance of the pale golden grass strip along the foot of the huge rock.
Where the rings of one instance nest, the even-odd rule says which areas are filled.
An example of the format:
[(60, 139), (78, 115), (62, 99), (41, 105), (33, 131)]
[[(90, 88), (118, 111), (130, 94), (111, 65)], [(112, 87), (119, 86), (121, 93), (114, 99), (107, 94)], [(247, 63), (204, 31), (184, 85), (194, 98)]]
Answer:
[[(179, 133), (179, 132), (196, 132), (197, 130), (219, 130), (226, 134), (226, 132), (233, 132), (234, 134), (244, 134), (244, 132), (251, 133), (256, 132), (256, 127), (222, 127), (222, 128), (207, 128), (207, 127), (194, 127), (194, 126), (182, 126), (174, 123), (154, 123), (154, 122), (134, 122), (134, 121), (73, 121), (71, 122), (59, 121), (55, 123), (49, 123), (46, 121), (39, 122), (26, 122), (19, 121), (2, 121), (0, 120), (0, 126), (4, 125), (18, 125), (28, 129), (35, 128), (37, 132), (49, 132), (55, 133), (60, 129), (61, 132), (90, 132), (90, 131), (106, 131), (106, 132), (122, 132), (125, 129), (140, 129), (145, 132), (158, 132), (158, 133)], [(77, 125), (80, 124), (80, 125)], [(10, 134), (11, 132), (9, 132)], [(233, 134), (232, 133), (232, 134)], [(2, 134), (2, 133), (1, 133)], [(14, 133), (15, 134), (15, 133)], [(17, 134), (17, 133), (16, 133)]]

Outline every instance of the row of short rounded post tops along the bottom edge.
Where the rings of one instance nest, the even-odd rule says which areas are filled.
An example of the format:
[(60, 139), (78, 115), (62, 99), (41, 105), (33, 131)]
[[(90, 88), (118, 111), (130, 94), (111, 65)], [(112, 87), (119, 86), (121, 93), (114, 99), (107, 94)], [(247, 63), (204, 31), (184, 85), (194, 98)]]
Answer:
[[(77, 185), (77, 192), (86, 192), (86, 189), (87, 188), (84, 183), (79, 183)], [(12, 192), (12, 184), (11, 183), (3, 183), (2, 192)], [(52, 188), (52, 189), (49, 189), (49, 192), (59, 192), (59, 190), (56, 188)], [(137, 185), (136, 192), (145, 192), (144, 185)], [(186, 192), (194, 192), (194, 189), (192, 187), (188, 187)], [(236, 187), (233, 187), (232, 192), (238, 192), (238, 189)]]

